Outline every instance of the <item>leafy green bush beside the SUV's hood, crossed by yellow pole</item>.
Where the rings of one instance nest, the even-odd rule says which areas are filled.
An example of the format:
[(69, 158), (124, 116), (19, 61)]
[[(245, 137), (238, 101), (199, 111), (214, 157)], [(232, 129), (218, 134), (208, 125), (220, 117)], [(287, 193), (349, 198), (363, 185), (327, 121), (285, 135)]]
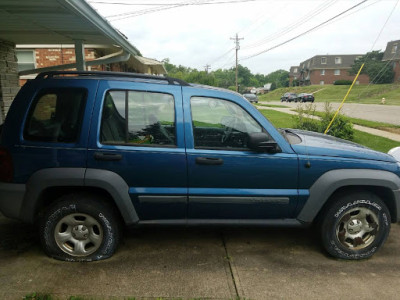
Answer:
[[(328, 102), (325, 103), (325, 110), (321, 118), (316, 116), (314, 104), (310, 103), (304, 107), (299, 106), (297, 108), (297, 115), (293, 117), (294, 128), (324, 133), (334, 115), (335, 112)], [(340, 114), (340, 112), (327, 133), (331, 136), (349, 141), (354, 139), (353, 124), (348, 118)]]

